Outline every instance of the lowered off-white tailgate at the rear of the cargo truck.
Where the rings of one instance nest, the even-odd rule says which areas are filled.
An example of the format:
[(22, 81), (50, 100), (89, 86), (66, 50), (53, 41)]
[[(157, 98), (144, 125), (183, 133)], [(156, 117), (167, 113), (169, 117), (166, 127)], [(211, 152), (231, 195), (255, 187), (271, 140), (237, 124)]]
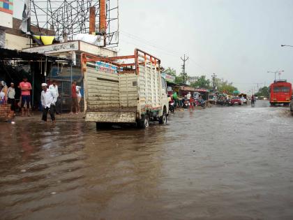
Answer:
[(87, 112), (86, 122), (135, 123), (136, 112)]

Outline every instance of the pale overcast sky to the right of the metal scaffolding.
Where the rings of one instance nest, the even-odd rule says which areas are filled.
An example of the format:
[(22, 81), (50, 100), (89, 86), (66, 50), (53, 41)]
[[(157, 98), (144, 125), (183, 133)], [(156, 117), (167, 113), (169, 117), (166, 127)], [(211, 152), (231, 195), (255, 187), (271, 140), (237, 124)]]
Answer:
[(120, 54), (135, 47), (179, 73), (216, 73), (248, 91), (269, 85), (273, 73), (293, 82), (292, 0), (119, 0)]

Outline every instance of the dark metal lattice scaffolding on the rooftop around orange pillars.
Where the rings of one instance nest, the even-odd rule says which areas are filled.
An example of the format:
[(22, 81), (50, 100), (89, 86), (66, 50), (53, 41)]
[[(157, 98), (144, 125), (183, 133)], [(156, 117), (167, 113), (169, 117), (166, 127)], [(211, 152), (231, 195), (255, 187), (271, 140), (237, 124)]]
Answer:
[[(90, 8), (96, 8), (96, 34), (107, 47), (115, 47), (119, 43), (119, 6), (118, 0), (30, 0), (31, 24), (38, 27), (42, 33), (44, 29), (53, 31), (55, 38), (63, 40), (67, 34), (89, 34)], [(106, 30), (99, 30), (100, 2), (105, 3)]]

